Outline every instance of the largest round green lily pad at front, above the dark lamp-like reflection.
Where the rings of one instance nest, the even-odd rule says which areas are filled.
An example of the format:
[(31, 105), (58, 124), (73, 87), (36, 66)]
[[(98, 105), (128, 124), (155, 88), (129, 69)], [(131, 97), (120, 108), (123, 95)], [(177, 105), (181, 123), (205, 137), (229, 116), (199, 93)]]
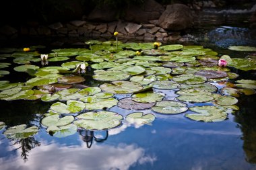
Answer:
[(74, 124), (87, 130), (108, 130), (121, 124), (123, 116), (115, 112), (86, 112), (76, 117)]

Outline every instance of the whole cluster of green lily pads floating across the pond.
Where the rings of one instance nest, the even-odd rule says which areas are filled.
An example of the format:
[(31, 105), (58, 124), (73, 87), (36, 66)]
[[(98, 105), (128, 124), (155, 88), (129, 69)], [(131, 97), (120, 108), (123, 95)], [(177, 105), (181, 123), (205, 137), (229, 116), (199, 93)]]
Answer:
[[(184, 116), (191, 120), (220, 122), (239, 109), (235, 104), (240, 95), (255, 94), (255, 80), (238, 79), (239, 75), (230, 72), (230, 67), (256, 70), (255, 58), (218, 56), (210, 48), (181, 44), (154, 46), (98, 40), (86, 44), (89, 48), (53, 49), (44, 60), (61, 62), (54, 67), (37, 64), (42, 54), (36, 50), (44, 46), (26, 51), (2, 48), (1, 60), (12, 59), (19, 65), (14, 71), (28, 73), (30, 79), (22, 83), (0, 81), (0, 99), (56, 101), (40, 123), (47, 132), (63, 137), (74, 134), (77, 128), (108, 130), (121, 126), (123, 121), (150, 124), (156, 114), (187, 112)], [(227, 67), (219, 67), (219, 59), (226, 60)], [(82, 64), (92, 69), (92, 79), (100, 82), (97, 87), (84, 85), (86, 73), (77, 72)], [(9, 62), (0, 63), (0, 69), (10, 66)], [(9, 71), (0, 71), (1, 77), (7, 74)], [(174, 99), (168, 99), (170, 92)], [(116, 105), (134, 112), (123, 118), (110, 111)], [(152, 110), (152, 114), (139, 110)], [(5, 124), (0, 122), (1, 126)], [(4, 134), (25, 138), (37, 131), (36, 126), (22, 124), (7, 128)]]

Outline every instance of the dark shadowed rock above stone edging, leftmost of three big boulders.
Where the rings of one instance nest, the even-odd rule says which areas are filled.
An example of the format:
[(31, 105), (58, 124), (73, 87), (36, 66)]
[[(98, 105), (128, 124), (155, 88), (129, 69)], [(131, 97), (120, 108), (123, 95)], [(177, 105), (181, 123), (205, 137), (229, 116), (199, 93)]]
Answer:
[(88, 20), (97, 22), (113, 22), (116, 19), (117, 10), (110, 5), (102, 5), (95, 7), (94, 10), (88, 15)]

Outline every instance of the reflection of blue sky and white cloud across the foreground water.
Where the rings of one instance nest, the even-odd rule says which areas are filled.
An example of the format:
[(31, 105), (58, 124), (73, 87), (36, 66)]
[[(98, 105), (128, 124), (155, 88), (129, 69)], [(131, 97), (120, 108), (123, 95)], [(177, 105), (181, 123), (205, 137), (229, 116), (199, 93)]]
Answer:
[[(41, 146), (32, 148), (26, 163), (20, 158), (20, 150), (9, 151), (13, 154), (1, 155), (1, 170), (253, 168), (245, 161), (241, 130), (233, 118), (230, 115), (224, 122), (203, 123), (183, 114), (156, 114), (153, 126), (135, 128), (124, 123), (109, 130), (106, 141), (94, 141), (91, 148), (78, 134), (55, 138), (42, 130), (35, 136)], [(1, 151), (6, 147), (13, 150), (4, 142), (0, 147)]]

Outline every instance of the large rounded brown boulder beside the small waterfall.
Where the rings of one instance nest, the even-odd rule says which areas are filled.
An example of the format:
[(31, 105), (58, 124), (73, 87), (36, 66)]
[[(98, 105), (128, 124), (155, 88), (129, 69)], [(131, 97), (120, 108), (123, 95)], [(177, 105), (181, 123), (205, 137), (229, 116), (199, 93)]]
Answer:
[(160, 16), (158, 25), (165, 30), (185, 30), (193, 26), (193, 13), (187, 5), (168, 5)]

